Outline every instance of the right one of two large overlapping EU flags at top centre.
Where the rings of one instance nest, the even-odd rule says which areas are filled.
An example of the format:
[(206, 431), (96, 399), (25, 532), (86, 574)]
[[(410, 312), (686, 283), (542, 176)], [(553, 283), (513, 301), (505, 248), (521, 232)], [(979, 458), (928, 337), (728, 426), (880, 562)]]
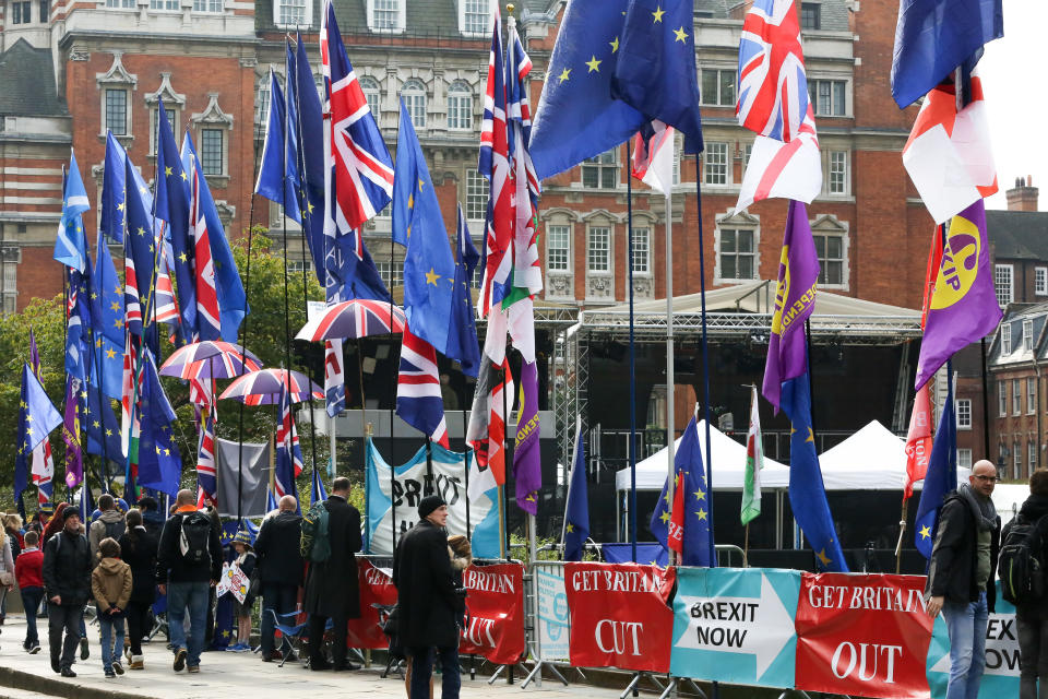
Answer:
[(692, 0), (630, 0), (612, 70), (614, 97), (684, 134), (686, 153), (702, 152)]

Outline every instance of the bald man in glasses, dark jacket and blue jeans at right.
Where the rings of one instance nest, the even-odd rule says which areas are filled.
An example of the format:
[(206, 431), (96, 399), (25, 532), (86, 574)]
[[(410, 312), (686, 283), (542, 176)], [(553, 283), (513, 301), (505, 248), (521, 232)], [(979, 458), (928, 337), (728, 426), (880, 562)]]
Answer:
[(993, 578), (1001, 518), (990, 495), (997, 467), (979, 461), (968, 483), (946, 496), (939, 513), (925, 594), (928, 615), (942, 612), (950, 635), (946, 699), (975, 699), (986, 667), (986, 627), (993, 612)]

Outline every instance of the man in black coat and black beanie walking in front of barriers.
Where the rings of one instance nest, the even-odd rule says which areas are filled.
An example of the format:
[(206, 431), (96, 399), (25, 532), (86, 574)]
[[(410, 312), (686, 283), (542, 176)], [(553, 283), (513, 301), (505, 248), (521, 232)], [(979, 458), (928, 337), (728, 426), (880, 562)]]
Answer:
[(436, 495), (418, 503), (419, 522), (393, 556), (401, 642), (412, 657), (410, 699), (429, 699), (433, 648), (440, 656), (441, 698), (458, 699), (458, 608), (448, 556), (448, 505)]

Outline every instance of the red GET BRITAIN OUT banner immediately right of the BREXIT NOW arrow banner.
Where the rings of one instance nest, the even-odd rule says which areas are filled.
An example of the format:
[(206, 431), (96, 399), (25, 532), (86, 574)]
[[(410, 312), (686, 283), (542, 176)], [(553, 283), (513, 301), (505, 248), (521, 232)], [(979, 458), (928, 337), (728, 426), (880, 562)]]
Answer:
[(922, 576), (805, 573), (796, 687), (861, 697), (928, 697), (932, 619)]

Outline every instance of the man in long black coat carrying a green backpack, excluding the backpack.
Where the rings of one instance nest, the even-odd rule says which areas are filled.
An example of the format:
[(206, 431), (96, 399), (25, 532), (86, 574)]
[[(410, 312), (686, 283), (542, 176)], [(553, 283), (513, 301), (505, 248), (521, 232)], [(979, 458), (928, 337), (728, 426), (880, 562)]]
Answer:
[[(327, 537), (331, 557), (310, 562), (306, 576), (306, 612), (309, 613), (309, 666), (312, 670), (358, 670), (346, 661), (346, 623), (360, 616), (360, 592), (357, 582), (356, 553), (362, 543), (360, 512), (349, 505), (349, 478), (338, 477), (331, 484), (331, 496), (324, 500), (327, 510)], [(334, 649), (330, 665), (321, 653), (324, 626), (332, 621)]]

